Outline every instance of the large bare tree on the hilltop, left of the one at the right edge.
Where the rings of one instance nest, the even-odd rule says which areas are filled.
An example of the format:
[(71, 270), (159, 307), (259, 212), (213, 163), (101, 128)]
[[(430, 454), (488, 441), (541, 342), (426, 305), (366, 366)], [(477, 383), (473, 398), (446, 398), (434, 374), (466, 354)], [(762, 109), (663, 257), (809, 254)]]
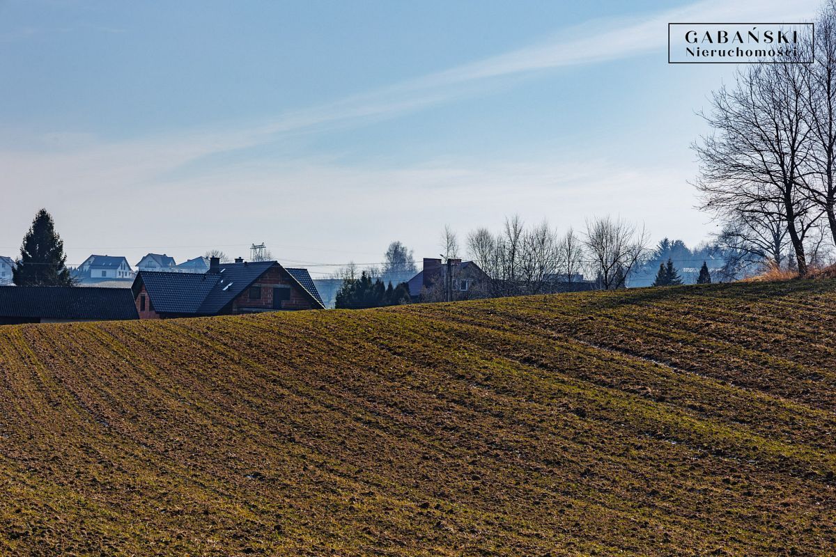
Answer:
[(800, 66), (758, 64), (739, 71), (734, 89), (712, 95), (711, 114), (701, 115), (715, 131), (693, 149), (701, 162), (701, 208), (726, 218), (783, 220), (803, 276), (804, 235), (816, 215), (798, 187), (810, 157), (807, 82)]

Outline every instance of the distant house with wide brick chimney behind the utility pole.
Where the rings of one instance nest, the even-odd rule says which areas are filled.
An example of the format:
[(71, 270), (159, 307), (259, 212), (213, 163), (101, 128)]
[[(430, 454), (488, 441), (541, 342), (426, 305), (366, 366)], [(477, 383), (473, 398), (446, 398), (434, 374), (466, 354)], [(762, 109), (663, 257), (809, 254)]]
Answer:
[[(450, 269), (450, 281), (446, 280)], [(486, 296), (488, 276), (473, 261), (449, 260), (449, 266), (441, 259), (424, 258), (421, 271), (413, 276), (407, 286), (413, 301), (469, 300)], [(446, 289), (450, 286), (450, 293)]]

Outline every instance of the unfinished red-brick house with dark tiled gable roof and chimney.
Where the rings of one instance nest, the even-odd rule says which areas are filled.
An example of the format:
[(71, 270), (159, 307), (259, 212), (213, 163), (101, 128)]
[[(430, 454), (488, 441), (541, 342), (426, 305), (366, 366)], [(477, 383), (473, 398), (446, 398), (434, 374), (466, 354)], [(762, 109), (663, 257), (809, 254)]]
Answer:
[(140, 319), (324, 309), (306, 269), (276, 261), (221, 264), (206, 273), (140, 271), (133, 292)]

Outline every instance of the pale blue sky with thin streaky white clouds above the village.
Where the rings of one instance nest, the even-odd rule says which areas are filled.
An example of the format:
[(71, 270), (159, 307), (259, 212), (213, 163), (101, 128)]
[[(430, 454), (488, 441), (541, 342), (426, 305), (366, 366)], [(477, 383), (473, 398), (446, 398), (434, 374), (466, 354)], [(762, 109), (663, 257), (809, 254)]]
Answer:
[(41, 207), (71, 265), (264, 242), (319, 278), (514, 214), (692, 246), (696, 113), (735, 66), (668, 64), (667, 23), (818, 6), (0, 0), (0, 255)]

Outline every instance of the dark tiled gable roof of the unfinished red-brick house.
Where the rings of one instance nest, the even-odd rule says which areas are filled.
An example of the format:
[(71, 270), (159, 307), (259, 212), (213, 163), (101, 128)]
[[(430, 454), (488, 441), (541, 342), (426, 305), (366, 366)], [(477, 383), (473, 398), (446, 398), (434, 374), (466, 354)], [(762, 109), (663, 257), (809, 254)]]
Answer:
[[(308, 271), (295, 269), (294, 274), (276, 261), (224, 263), (220, 266), (221, 272), (217, 274), (140, 271), (132, 291), (136, 296), (144, 285), (157, 313), (215, 315), (273, 266), (286, 271), (314, 302), (314, 306), (324, 308)], [(303, 275), (307, 276), (309, 286), (302, 284)]]

